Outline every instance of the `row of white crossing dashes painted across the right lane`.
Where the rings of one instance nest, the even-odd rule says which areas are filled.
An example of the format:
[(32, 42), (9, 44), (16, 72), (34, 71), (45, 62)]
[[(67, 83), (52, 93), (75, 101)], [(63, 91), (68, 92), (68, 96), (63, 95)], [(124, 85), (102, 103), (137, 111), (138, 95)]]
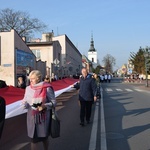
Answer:
[(143, 90), (141, 89), (128, 89), (128, 88), (124, 88), (124, 89), (120, 89), (120, 88), (104, 88), (102, 89), (105, 92), (143, 92)]

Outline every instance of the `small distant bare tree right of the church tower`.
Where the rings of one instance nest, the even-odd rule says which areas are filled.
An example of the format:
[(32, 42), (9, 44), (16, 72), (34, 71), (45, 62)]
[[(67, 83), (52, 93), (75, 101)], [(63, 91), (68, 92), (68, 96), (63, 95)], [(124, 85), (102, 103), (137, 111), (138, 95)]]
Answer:
[(113, 72), (113, 66), (116, 64), (116, 59), (111, 56), (110, 54), (107, 54), (104, 58), (103, 58), (103, 63), (105, 66), (105, 69), (107, 72)]

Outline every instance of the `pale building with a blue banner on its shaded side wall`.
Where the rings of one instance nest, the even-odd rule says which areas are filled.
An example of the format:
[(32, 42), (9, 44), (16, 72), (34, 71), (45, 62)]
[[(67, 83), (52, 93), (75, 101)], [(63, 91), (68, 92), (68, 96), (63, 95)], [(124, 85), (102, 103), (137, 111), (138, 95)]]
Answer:
[(0, 80), (16, 86), (18, 76), (35, 68), (36, 58), (17, 32), (0, 32)]

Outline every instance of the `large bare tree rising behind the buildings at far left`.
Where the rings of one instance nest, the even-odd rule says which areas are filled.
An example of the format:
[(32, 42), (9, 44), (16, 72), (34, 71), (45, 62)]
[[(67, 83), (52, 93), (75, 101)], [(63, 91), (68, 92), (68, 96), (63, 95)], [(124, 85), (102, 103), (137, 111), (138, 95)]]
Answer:
[(20, 36), (29, 37), (34, 32), (42, 32), (46, 25), (37, 18), (31, 18), (27, 12), (13, 9), (0, 10), (0, 31), (15, 29)]

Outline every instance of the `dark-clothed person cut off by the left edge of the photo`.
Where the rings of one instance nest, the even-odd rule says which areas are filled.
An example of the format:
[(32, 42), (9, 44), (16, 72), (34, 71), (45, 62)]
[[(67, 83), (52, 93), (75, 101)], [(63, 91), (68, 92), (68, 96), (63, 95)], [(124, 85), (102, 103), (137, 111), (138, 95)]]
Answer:
[(3, 131), (4, 121), (5, 121), (5, 109), (6, 104), (4, 98), (0, 97), (0, 138)]

